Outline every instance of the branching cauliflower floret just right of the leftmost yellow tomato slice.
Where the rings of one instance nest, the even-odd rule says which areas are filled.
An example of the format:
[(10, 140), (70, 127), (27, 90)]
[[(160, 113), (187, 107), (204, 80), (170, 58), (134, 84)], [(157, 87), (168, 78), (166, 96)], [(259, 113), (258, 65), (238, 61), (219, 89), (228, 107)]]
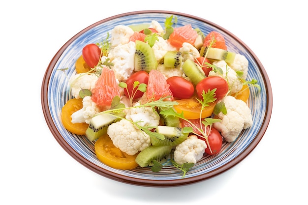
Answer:
[(90, 121), (94, 115), (100, 112), (100, 109), (96, 106), (96, 103), (92, 101), (91, 96), (85, 96), (82, 99), (82, 109), (76, 111), (71, 115), (72, 123), (86, 122), (90, 124)]

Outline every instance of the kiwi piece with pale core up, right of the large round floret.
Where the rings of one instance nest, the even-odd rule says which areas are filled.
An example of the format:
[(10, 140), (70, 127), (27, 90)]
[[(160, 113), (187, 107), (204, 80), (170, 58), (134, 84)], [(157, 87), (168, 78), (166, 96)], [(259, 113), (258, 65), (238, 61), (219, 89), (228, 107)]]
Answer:
[(188, 137), (188, 133), (184, 133), (180, 127), (158, 125), (155, 132), (164, 135), (165, 139), (151, 138), (151, 143), (154, 146), (176, 146)]

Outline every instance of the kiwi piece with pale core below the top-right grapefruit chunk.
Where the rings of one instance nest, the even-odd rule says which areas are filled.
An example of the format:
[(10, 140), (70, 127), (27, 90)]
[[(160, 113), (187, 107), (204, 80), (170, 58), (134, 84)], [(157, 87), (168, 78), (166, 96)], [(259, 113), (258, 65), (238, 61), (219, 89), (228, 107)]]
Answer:
[(233, 63), (236, 55), (236, 53), (212, 47), (202, 47), (200, 50), (200, 55), (204, 57), (206, 55), (206, 52), (208, 52), (206, 56), (207, 59), (224, 60), (226, 61), (226, 63)]

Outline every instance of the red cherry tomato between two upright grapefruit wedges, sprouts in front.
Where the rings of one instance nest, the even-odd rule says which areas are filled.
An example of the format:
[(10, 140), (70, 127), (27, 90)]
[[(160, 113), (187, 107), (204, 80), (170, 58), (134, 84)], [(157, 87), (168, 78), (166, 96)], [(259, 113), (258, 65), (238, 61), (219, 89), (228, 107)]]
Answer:
[[(134, 82), (138, 81), (140, 84), (148, 84), (149, 82), (149, 73), (147, 73), (144, 70), (137, 71), (133, 73), (129, 78), (126, 80), (127, 89), (124, 89), (125, 96), (132, 96), (135, 92), (136, 94), (133, 96), (133, 99), (137, 99), (143, 95), (143, 92), (140, 90), (137, 90), (138, 87), (134, 88)], [(128, 92), (127, 92), (128, 90)], [(136, 91), (137, 90), (137, 91)], [(129, 95), (128, 95), (129, 93)]]

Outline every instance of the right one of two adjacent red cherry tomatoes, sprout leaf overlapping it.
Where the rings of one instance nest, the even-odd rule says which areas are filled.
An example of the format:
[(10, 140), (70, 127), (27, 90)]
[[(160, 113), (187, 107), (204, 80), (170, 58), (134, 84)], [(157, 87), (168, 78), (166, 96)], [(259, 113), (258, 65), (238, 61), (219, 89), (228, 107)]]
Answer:
[(228, 82), (219, 76), (206, 77), (196, 85), (197, 95), (200, 99), (202, 99), (203, 90), (207, 92), (209, 89), (213, 90), (215, 88), (215, 98), (216, 100), (220, 100), (227, 94), (229, 90)]

